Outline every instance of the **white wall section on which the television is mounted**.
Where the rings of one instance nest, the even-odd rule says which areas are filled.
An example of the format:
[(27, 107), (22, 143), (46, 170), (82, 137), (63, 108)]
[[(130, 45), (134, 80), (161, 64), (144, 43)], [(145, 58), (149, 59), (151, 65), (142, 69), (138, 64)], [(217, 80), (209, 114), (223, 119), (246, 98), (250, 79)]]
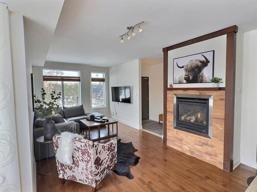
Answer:
[(135, 127), (136, 129), (141, 129), (142, 120), (140, 59), (122, 63), (109, 69), (110, 98), (112, 98), (111, 87), (115, 86), (130, 86), (132, 103), (117, 103), (110, 100), (112, 116), (127, 125)]

